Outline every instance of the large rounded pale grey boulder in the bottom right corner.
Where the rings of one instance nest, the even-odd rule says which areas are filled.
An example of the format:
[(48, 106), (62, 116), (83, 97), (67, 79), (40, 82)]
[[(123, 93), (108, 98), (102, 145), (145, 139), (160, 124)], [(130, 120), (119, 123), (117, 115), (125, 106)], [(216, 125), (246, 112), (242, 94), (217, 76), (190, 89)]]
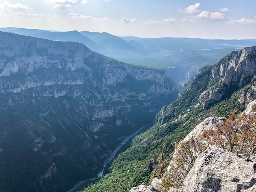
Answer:
[(247, 157), (220, 148), (202, 153), (187, 175), (182, 192), (253, 191), (256, 164)]

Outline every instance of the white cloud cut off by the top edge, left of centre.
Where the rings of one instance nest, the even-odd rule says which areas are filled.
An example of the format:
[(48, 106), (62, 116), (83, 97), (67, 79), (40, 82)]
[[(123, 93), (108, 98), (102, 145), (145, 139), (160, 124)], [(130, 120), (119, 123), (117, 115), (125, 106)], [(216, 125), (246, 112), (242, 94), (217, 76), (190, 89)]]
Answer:
[(73, 4), (87, 3), (89, 0), (45, 0), (45, 2), (52, 5), (52, 9), (63, 11)]

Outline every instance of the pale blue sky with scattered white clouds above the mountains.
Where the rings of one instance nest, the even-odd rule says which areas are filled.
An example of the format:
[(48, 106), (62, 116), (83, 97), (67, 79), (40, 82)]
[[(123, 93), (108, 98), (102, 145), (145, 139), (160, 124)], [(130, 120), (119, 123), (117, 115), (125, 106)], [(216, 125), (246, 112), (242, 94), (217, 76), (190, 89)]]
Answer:
[(0, 27), (256, 39), (256, 0), (0, 0)]

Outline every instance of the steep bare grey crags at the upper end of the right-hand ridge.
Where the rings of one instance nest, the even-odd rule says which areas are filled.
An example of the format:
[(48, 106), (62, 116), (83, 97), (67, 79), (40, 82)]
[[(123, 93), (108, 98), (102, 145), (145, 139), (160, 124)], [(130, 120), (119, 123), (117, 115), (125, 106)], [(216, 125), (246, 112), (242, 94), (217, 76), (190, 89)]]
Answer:
[(247, 85), (256, 73), (256, 46), (245, 47), (224, 57), (213, 68), (211, 76), (216, 82), (200, 95), (202, 106), (219, 101), (228, 88), (240, 89)]

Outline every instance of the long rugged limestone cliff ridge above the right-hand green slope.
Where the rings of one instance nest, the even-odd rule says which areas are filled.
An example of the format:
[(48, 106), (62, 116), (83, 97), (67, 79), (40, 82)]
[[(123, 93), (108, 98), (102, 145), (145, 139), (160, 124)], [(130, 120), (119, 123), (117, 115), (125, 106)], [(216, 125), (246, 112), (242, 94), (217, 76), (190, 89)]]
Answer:
[(242, 104), (256, 99), (256, 46), (232, 52), (216, 65), (201, 69), (179, 93), (178, 99), (164, 106), (156, 116), (163, 125), (186, 116), (189, 112), (210, 108), (238, 91)]

